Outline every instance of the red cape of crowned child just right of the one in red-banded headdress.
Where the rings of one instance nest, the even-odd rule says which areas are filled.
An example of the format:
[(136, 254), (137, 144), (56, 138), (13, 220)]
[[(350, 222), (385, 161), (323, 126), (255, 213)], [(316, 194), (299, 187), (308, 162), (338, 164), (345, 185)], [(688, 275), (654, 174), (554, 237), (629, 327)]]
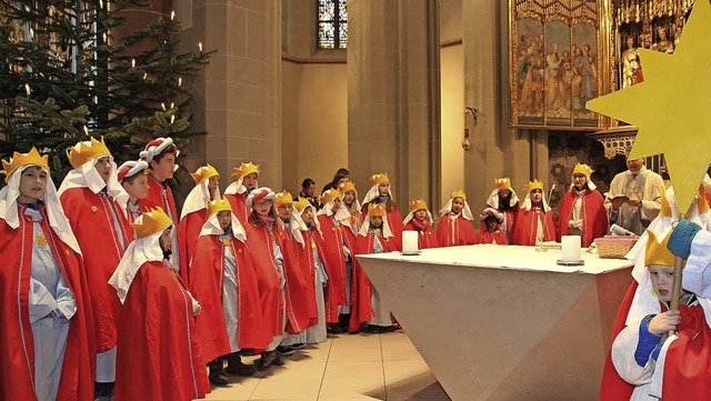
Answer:
[[(304, 277), (304, 270), (297, 254), (297, 240), (281, 224), (277, 223), (279, 237), (277, 240), (284, 257), (284, 275), (287, 279), (287, 332), (298, 334), (309, 328), (311, 321), (310, 303), (316, 301), (316, 295), (309, 293), (309, 279)], [(313, 281), (311, 281), (313, 282)], [(313, 287), (313, 284), (311, 285)]]

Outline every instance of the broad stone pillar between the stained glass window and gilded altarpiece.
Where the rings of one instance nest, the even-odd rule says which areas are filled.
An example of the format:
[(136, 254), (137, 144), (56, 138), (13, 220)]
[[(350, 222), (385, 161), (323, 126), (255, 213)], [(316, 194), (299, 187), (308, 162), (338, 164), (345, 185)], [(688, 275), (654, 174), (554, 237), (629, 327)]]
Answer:
[[(349, 3), (351, 178), (388, 172), (403, 212), (439, 197), (439, 28), (435, 0)], [(403, 213), (404, 214), (404, 213)]]

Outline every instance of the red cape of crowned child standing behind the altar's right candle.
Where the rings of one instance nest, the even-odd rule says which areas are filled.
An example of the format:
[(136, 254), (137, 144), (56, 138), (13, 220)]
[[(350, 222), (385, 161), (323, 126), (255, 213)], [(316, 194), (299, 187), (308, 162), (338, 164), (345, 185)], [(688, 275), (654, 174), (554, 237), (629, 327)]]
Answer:
[[(558, 241), (561, 235), (568, 235), (568, 222), (573, 217), (573, 204), (578, 199), (575, 189), (571, 189), (563, 196), (563, 201), (560, 205), (560, 213), (558, 214)], [(600, 191), (585, 190), (585, 194), (582, 197), (582, 238), (581, 245), (583, 248), (590, 247), (595, 238), (604, 237), (610, 225), (608, 219), (608, 211), (602, 205), (602, 196)]]

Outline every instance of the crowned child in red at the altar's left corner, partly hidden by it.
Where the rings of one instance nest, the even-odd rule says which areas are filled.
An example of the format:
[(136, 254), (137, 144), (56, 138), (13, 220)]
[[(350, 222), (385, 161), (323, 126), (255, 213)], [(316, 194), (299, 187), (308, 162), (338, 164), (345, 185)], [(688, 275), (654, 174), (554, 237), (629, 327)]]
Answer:
[[(356, 239), (356, 254), (393, 252), (400, 250), (390, 230), (385, 208), (380, 203), (368, 205), (368, 214)], [(365, 271), (356, 260), (353, 263), (353, 287), (351, 289), (350, 332), (361, 325), (369, 332), (383, 333), (395, 330), (390, 310), (383, 304), (380, 293), (372, 285)]]

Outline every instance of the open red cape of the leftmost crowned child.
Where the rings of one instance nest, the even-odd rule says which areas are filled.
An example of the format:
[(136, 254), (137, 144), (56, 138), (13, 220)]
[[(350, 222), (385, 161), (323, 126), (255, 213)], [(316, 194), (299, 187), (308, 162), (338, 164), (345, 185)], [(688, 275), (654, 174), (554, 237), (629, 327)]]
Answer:
[[(34, 345), (30, 324), (29, 292), (33, 224), (18, 208), (20, 227), (12, 229), (0, 220), (0, 400), (36, 400)], [(48, 221), (47, 214), (43, 221)], [(64, 244), (47, 224), (44, 238), (77, 301), (77, 313), (69, 320), (67, 349), (57, 400), (93, 400), (96, 344), (93, 318), (83, 275), (81, 257)], [(22, 241), (24, 240), (24, 241)]]

